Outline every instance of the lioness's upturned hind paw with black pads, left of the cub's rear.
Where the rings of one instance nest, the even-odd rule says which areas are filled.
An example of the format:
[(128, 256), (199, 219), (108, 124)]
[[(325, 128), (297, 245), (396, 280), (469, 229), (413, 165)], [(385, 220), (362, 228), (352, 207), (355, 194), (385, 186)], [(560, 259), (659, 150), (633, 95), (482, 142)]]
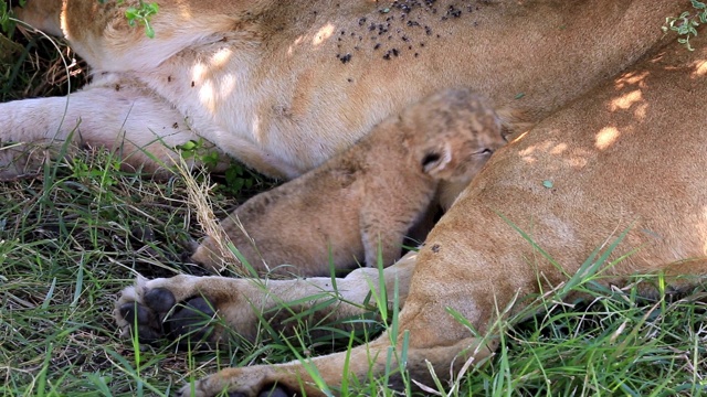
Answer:
[(137, 336), (140, 343), (178, 341), (180, 346), (211, 342), (217, 312), (204, 297), (178, 302), (175, 293), (159, 287), (162, 279), (143, 277), (120, 293), (113, 312), (122, 336)]

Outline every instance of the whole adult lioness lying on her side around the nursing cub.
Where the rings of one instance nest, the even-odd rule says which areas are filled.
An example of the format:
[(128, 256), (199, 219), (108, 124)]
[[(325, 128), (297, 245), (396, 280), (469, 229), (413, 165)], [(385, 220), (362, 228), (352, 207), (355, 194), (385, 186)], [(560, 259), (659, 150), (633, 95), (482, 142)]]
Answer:
[[(157, 172), (160, 163), (147, 153), (168, 162), (170, 148), (203, 137), (261, 171), (295, 176), (386, 116), (450, 86), (469, 86), (496, 107), (524, 107), (544, 119), (494, 154), (419, 255), (383, 271), (386, 285), (397, 280), (401, 290), (400, 335), (356, 347), (350, 358), (340, 353), (312, 361), (331, 387), (341, 383), (345, 365), (359, 378), (383, 372), (391, 336), (400, 344), (403, 332), (407, 369), (421, 383), (430, 383), (425, 361), (444, 375), (467, 358), (481, 360), (495, 348), (493, 340), (476, 340), (449, 309), (484, 334), (498, 308), (561, 283), (608, 236), (625, 229), (614, 258), (637, 250), (604, 269), (603, 282), (664, 271), (680, 288), (690, 282), (682, 276), (705, 273), (707, 52), (700, 42), (694, 53), (659, 50), (656, 26), (679, 11), (674, 1), (160, 4), (158, 36), (150, 41), (130, 30), (113, 3), (30, 0), (22, 17), (63, 32), (96, 77), (72, 97), (63, 127), (63, 99), (0, 105), (0, 139), (61, 141), (81, 119), (73, 139), (120, 149), (126, 167)], [(4, 175), (34, 164), (32, 153), (0, 153), (9, 167)], [(376, 269), (356, 270), (337, 280), (338, 291), (362, 302), (370, 286), (365, 279), (378, 285)], [(139, 280), (124, 291), (116, 318), (126, 333), (137, 324), (141, 337), (154, 339), (163, 332), (160, 321), (183, 302), (213, 308), (254, 337), (254, 307), (330, 285), (328, 277), (271, 280), (264, 293), (243, 279)], [(341, 304), (334, 314), (357, 310)], [(177, 308), (170, 315), (188, 328), (188, 312)], [(193, 389), (198, 396), (256, 396), (273, 384), (281, 394), (321, 394), (298, 362), (224, 369)]]

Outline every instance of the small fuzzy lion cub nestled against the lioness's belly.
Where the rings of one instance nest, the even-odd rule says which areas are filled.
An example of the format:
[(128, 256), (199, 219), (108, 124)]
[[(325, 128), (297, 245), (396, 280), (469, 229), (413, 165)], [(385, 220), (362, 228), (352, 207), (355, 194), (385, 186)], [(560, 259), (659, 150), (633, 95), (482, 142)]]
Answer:
[[(445, 90), (387, 118), (321, 167), (249, 200), (221, 226), (258, 272), (324, 276), (329, 264), (376, 266), (379, 253), (388, 266), (440, 181), (471, 181), (504, 143), (484, 99)], [(207, 237), (191, 258), (219, 270), (221, 249)]]

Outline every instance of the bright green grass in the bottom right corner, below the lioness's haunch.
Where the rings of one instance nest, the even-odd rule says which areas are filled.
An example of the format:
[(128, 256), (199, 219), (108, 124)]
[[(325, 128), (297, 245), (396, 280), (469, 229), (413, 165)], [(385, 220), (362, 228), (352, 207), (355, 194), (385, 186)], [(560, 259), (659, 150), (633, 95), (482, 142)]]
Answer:
[[(572, 289), (583, 299), (540, 300), (539, 314), (503, 324), (503, 347), (466, 378), (465, 393), (545, 396), (696, 396), (705, 387), (704, 289), (640, 298), (623, 290)], [(513, 390), (513, 393), (509, 393)]]

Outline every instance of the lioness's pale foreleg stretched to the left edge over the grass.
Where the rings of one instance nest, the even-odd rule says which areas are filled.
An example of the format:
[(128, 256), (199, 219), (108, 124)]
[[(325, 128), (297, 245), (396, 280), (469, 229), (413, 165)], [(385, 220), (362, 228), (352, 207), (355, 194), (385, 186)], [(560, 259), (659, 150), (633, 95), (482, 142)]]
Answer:
[(175, 148), (190, 140), (199, 136), (169, 104), (106, 75), (68, 97), (0, 104), (0, 179), (35, 172), (65, 143), (105, 147), (120, 155), (125, 169), (155, 173), (178, 163)]

